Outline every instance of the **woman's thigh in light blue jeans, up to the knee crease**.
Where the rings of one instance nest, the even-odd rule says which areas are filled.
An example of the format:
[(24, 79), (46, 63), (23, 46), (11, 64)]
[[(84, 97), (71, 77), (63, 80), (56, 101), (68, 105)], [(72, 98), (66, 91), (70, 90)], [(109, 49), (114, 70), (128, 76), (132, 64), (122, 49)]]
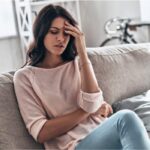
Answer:
[(121, 150), (122, 145), (116, 129), (116, 119), (113, 115), (105, 120), (87, 137), (85, 137), (76, 147), (76, 150)]

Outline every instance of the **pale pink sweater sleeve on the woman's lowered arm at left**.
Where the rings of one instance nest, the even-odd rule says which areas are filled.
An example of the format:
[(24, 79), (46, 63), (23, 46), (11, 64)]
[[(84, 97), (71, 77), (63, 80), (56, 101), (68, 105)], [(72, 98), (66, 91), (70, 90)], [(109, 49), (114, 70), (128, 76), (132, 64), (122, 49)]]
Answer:
[(25, 74), (23, 71), (15, 73), (14, 88), (26, 128), (37, 141), (38, 134), (47, 121), (46, 112), (32, 88), (31, 77), (33, 78), (33, 76), (30, 75), (30, 72)]

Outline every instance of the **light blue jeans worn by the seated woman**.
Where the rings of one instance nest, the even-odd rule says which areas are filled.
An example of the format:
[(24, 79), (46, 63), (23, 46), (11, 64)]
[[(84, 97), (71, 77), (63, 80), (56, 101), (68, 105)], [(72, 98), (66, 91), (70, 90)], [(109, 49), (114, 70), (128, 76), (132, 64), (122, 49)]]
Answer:
[(76, 146), (76, 150), (150, 150), (150, 140), (139, 117), (121, 110), (105, 120)]

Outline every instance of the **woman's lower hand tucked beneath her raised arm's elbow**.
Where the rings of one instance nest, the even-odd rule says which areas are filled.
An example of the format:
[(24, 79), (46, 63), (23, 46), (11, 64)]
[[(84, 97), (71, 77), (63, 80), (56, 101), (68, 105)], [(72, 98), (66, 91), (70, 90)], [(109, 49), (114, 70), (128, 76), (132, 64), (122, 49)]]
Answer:
[(102, 117), (109, 117), (113, 113), (113, 109), (110, 104), (108, 104), (106, 101), (103, 102), (101, 107), (92, 115), (100, 115)]

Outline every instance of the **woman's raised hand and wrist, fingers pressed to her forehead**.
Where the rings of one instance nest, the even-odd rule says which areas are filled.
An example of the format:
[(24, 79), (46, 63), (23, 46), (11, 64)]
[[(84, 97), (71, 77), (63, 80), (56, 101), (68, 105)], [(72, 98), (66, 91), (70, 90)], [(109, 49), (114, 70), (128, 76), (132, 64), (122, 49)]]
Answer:
[(65, 33), (75, 38), (75, 46), (78, 54), (86, 53), (85, 37), (78, 26), (73, 26), (65, 21)]

